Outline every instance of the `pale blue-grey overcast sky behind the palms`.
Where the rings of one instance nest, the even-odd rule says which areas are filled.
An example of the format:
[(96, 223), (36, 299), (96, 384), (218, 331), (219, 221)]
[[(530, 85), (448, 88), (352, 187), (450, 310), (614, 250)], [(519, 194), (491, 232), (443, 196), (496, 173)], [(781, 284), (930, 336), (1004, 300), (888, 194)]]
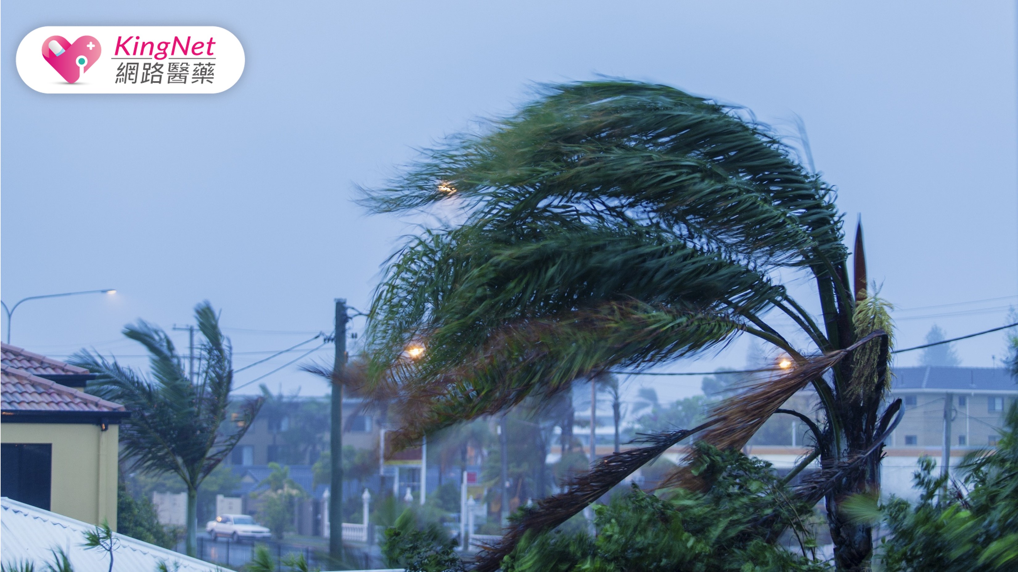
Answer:
[[(333, 298), (365, 307), (411, 230), (366, 216), (354, 184), (509, 112), (534, 82), (599, 74), (743, 105), (790, 134), (800, 116), (840, 208), (862, 216), (870, 277), (901, 308), (899, 347), (935, 323), (949, 336), (1003, 325), (1018, 302), (1013, 2), (359, 4), (3, 2), (3, 300), (118, 290), (25, 302), (11, 342), (136, 361), (124, 324), (184, 325), (203, 299), (222, 308), (238, 367), (329, 332)], [(246, 54), (236, 85), (43, 95), (14, 67), (21, 38), (42, 25), (175, 23), (236, 35)], [(185, 335), (175, 339), (186, 351)], [(989, 366), (1003, 336), (956, 350)], [(741, 367), (746, 353), (739, 342), (669, 368)], [(296, 365), (264, 382), (326, 389)], [(697, 377), (653, 383), (665, 399), (699, 390)]]

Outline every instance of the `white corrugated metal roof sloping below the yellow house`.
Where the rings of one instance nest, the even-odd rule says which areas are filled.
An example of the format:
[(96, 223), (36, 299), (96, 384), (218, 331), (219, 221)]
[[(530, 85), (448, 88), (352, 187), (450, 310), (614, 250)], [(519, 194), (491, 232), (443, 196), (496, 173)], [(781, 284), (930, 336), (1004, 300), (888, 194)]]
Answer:
[[(74, 572), (107, 572), (110, 560), (106, 553), (81, 547), (86, 530), (93, 525), (43, 509), (0, 497), (0, 553), (4, 564), (23, 559), (32, 560), (39, 570), (53, 561), (50, 550), (61, 548), (67, 553)], [(150, 572), (160, 561), (180, 564), (180, 572), (214, 572), (213, 564), (116, 534), (119, 547), (113, 552), (114, 570)]]

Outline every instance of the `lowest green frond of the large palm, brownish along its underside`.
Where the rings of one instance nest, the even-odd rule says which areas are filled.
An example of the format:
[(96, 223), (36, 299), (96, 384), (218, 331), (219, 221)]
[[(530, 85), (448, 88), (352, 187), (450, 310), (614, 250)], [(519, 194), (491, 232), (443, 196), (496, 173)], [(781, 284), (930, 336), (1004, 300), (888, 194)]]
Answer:
[[(482, 348), (446, 359), (404, 360), (386, 384), (402, 413), (397, 446), (458, 420), (503, 411), (533, 392), (548, 397), (613, 366), (639, 369), (724, 343), (741, 323), (726, 316), (606, 303), (569, 320), (523, 321)], [(452, 357), (452, 356), (450, 356)]]

